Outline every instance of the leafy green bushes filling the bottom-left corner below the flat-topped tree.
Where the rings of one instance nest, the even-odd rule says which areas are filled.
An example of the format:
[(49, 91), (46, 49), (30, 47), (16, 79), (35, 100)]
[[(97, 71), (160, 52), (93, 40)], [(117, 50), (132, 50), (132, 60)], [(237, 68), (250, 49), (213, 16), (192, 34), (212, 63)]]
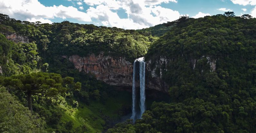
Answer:
[(4, 87), (0, 87), (0, 132), (46, 133), (45, 121), (31, 114)]

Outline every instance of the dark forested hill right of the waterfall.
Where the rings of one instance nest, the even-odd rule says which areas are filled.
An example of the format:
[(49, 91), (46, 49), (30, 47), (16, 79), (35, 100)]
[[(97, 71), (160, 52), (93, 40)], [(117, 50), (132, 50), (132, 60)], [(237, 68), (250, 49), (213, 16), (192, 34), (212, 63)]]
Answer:
[(146, 60), (169, 59), (162, 79), (172, 100), (153, 103), (132, 125), (136, 132), (256, 132), (256, 19), (244, 17), (226, 12), (175, 21), (150, 46)]

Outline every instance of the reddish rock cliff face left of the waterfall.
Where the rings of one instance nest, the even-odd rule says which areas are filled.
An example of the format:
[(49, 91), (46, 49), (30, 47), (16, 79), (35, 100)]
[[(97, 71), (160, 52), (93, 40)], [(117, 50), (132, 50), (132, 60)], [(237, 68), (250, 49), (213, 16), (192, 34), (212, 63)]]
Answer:
[[(63, 56), (65, 57), (65, 56)], [(75, 68), (81, 72), (95, 74), (95, 77), (114, 86), (132, 86), (133, 65), (125, 58), (113, 58), (91, 54), (87, 57), (72, 55), (69, 61), (73, 62)]]

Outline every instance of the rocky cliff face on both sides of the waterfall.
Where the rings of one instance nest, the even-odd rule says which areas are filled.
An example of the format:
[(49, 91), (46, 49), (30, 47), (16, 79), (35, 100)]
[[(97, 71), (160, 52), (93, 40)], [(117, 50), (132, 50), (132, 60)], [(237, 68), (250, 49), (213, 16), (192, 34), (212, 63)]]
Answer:
[[(121, 87), (132, 87), (132, 73), (133, 64), (126, 61), (123, 57), (104, 56), (103, 53), (99, 55), (90, 54), (87, 57), (80, 57), (78, 55), (72, 55), (68, 58), (73, 62), (75, 68), (81, 72), (92, 73), (99, 80), (102, 80), (110, 85)], [(157, 60), (153, 69), (149, 66), (151, 61), (146, 62), (146, 88), (154, 89), (162, 92), (167, 92), (168, 87), (166, 83), (161, 80), (161, 71), (166, 71), (159, 66), (166, 66), (167, 59), (160, 58)], [(160, 69), (161, 68), (161, 69)], [(160, 71), (160, 75), (156, 74), (156, 71)], [(139, 86), (139, 85), (137, 85)]]

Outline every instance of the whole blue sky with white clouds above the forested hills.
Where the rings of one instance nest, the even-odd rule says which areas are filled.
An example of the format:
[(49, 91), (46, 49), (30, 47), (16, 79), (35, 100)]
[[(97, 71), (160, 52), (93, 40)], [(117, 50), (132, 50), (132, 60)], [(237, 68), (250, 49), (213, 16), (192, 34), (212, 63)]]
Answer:
[(0, 0), (0, 13), (21, 21), (143, 29), (187, 15), (234, 12), (256, 17), (256, 0)]

